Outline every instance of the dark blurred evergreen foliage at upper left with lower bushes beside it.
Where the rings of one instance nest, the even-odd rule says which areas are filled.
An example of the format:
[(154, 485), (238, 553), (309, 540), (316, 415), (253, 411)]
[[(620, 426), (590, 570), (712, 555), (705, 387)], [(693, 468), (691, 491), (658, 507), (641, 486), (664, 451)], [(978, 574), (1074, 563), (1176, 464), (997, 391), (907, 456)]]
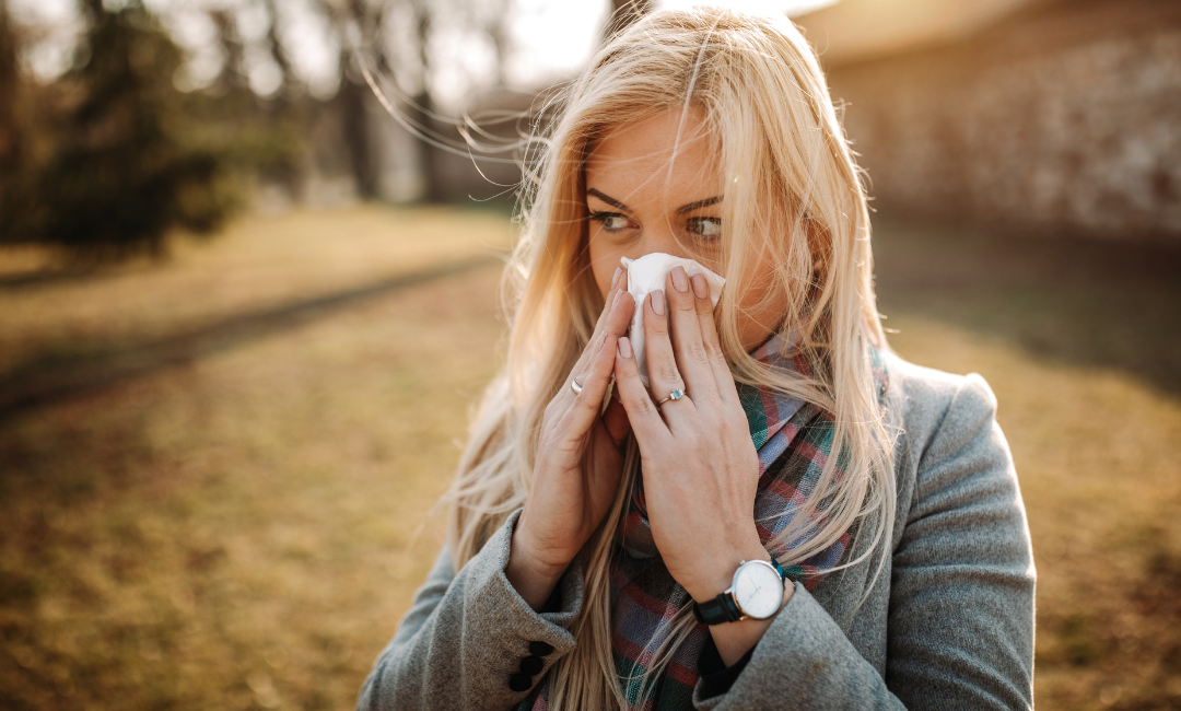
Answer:
[(25, 107), (0, 117), (0, 135), (13, 137), (0, 243), (50, 246), (84, 262), (159, 256), (172, 230), (221, 227), (252, 175), (293, 172), (292, 122), (268, 116), (246, 89), (178, 91), (183, 56), (141, 2), (111, 11), (87, 0), (85, 9), (81, 54), (50, 85), (20, 76), (18, 38), (0, 20), (2, 89), (20, 99), (5, 103)]

